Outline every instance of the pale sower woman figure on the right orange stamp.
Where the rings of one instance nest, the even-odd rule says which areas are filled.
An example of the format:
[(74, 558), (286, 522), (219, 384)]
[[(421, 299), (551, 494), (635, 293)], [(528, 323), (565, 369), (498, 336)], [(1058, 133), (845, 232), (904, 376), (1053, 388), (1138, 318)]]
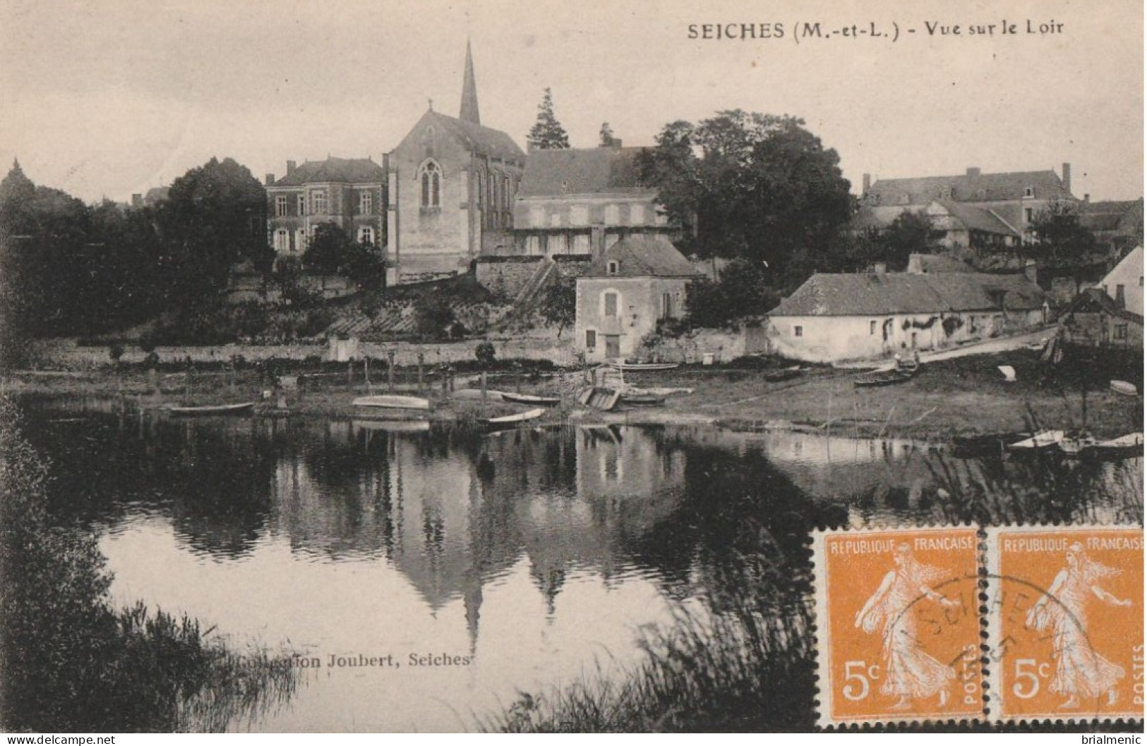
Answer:
[(1052, 587), (1028, 611), (1029, 627), (1052, 633), (1055, 676), (1051, 690), (1068, 698), (1060, 705), (1061, 709), (1078, 707), (1080, 696), (1095, 698), (1105, 692), (1108, 704), (1115, 704), (1115, 686), (1125, 672), (1091, 646), (1086, 602), (1089, 596), (1095, 596), (1111, 606), (1130, 606), (1130, 598), (1121, 600), (1099, 587), (1103, 578), (1118, 574), (1115, 567), (1087, 557), (1083, 544), (1076, 542), (1068, 547), (1067, 567), (1055, 575)]

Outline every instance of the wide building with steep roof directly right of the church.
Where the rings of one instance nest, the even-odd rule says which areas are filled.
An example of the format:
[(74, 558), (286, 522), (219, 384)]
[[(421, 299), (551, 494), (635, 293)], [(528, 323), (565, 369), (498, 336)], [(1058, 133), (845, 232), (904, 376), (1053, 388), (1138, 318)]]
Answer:
[(522, 254), (594, 254), (625, 236), (676, 237), (642, 183), (645, 148), (533, 150), (514, 202), (514, 250)]

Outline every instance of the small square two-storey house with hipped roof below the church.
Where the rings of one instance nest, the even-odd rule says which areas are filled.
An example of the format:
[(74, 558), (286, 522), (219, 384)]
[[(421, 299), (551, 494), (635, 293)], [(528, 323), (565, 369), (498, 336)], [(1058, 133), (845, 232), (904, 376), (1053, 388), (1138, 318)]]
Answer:
[(575, 344), (586, 360), (633, 354), (665, 319), (686, 313), (696, 269), (661, 235), (626, 236), (596, 256), (577, 278)]

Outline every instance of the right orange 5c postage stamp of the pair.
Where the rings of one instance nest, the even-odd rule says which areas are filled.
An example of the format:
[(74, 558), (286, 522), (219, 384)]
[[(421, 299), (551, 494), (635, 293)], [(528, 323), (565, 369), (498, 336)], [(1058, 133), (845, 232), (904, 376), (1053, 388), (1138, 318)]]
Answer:
[(1144, 532), (988, 529), (993, 718), (1144, 716)]

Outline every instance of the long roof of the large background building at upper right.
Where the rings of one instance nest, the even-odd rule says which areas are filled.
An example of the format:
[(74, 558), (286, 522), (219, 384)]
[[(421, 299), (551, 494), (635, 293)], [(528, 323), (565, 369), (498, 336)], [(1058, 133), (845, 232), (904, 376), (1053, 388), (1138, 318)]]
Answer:
[[(916, 176), (880, 179), (865, 194), (872, 205), (926, 205), (934, 199), (954, 202), (1005, 202), (1023, 199), (1031, 187), (1036, 199), (1074, 199), (1054, 171), (960, 174), (959, 176)], [(945, 194), (951, 189), (951, 194)], [(908, 202), (902, 202), (908, 195)]]

